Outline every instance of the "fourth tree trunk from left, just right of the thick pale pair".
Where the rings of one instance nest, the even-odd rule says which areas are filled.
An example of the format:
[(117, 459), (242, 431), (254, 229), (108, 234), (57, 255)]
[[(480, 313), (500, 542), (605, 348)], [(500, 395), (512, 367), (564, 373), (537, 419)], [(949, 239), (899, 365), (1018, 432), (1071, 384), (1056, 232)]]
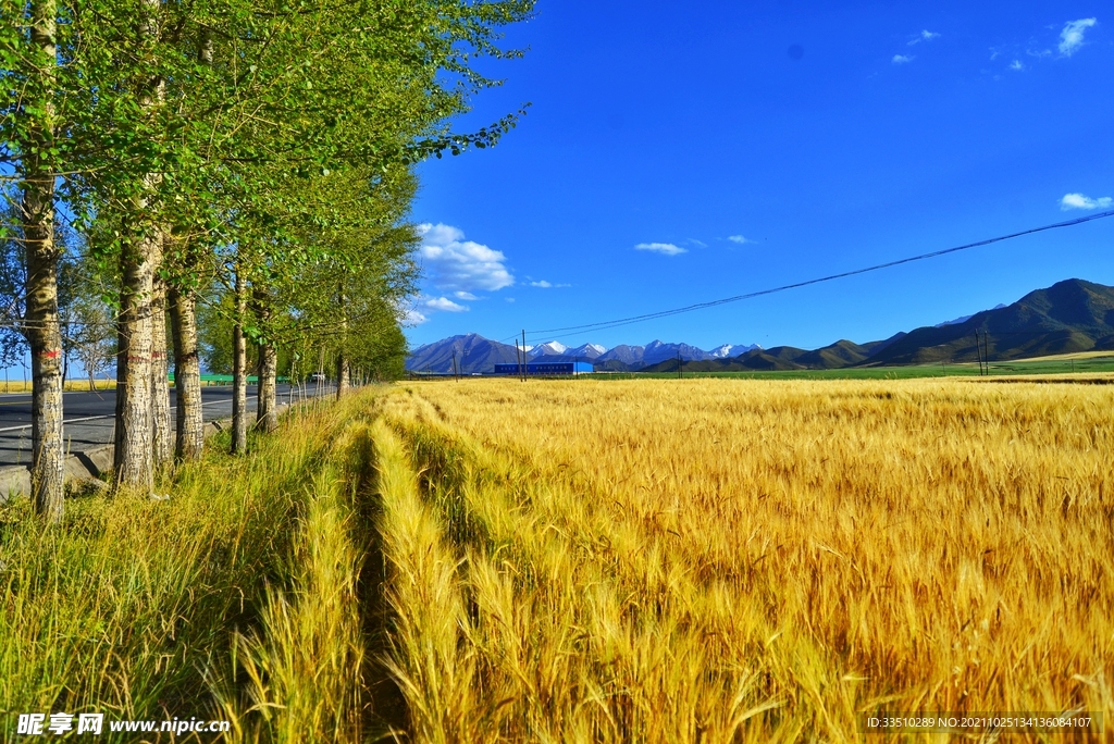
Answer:
[(197, 356), (197, 306), (194, 293), (170, 285), (170, 333), (174, 336), (174, 454), (183, 462), (202, 459), (205, 420), (202, 415), (202, 368)]

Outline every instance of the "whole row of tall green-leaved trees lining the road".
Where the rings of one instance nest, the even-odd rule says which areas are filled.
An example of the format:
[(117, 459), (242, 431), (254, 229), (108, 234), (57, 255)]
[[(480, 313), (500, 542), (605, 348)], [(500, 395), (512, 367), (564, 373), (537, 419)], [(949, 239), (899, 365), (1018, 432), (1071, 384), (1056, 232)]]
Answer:
[(401, 343), (412, 166), (514, 126), (517, 115), (470, 134), (447, 123), (498, 84), (472, 60), (517, 56), (498, 30), (531, 4), (0, 0), (0, 167), (16, 185), (8, 238), (26, 261), (38, 511), (62, 511), (60, 223), (110, 287), (118, 487), (149, 490), (175, 454), (201, 454), (199, 300), (231, 322), (242, 452), (248, 344), (267, 429), (280, 349), (328, 347), (343, 394), (355, 360)]

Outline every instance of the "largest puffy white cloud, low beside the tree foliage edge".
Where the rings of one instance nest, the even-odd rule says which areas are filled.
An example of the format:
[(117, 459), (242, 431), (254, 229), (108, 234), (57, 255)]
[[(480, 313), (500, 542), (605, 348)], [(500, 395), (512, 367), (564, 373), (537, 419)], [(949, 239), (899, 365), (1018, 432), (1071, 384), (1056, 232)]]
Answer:
[(418, 226), (422, 236), (419, 254), (434, 285), (442, 290), (495, 292), (515, 283), (499, 251), (465, 239), (463, 231), (451, 225)]

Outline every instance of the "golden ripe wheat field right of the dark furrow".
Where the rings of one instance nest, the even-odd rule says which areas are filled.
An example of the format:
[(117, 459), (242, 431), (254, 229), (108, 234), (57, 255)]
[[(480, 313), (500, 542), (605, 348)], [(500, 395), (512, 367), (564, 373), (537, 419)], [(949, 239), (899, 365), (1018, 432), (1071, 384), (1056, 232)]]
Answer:
[(1093, 734), (1055, 741), (1114, 738), (1114, 386), (475, 380), (381, 407), (418, 741), (1076, 711)]

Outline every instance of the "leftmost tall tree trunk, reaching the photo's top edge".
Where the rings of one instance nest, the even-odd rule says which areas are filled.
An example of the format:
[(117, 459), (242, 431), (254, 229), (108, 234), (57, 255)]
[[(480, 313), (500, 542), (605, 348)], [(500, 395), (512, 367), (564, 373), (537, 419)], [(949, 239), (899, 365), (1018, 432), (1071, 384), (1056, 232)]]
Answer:
[(28, 127), (22, 175), (22, 228), (27, 252), (27, 329), (31, 345), (31, 491), (35, 510), (48, 521), (62, 517), (66, 450), (62, 440), (62, 339), (58, 326), (58, 258), (55, 245), (55, 169), (42, 154), (55, 140), (52, 102), (57, 49), (55, 2), (31, 3)]

